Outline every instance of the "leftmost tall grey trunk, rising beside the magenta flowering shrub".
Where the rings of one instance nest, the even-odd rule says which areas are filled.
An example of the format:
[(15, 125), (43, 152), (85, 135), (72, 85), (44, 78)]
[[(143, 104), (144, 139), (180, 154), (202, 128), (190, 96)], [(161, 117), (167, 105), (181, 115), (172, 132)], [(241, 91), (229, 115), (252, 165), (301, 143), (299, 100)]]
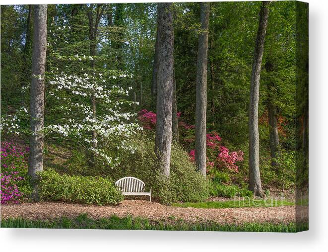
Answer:
[[(30, 152), (28, 174), (34, 179), (43, 170), (44, 75), (47, 53), (47, 4), (34, 6), (34, 33), (32, 53), (32, 81), (30, 95)], [(39, 200), (36, 184), (32, 198)]]

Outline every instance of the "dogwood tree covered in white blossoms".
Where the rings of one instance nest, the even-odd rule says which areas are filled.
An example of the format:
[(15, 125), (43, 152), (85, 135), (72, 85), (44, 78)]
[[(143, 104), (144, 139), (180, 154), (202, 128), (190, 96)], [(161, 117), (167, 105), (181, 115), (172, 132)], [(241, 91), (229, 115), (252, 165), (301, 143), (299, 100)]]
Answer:
[[(125, 98), (129, 95), (129, 90), (111, 84), (111, 79), (132, 76), (122, 71), (107, 71), (104, 75), (93, 71), (82, 76), (65, 73), (54, 76), (49, 82), (47, 99), (53, 102), (52, 106), (60, 112), (61, 118), (55, 124), (45, 127), (45, 136), (57, 133), (59, 137), (76, 141), (114, 167), (119, 164), (119, 157), (111, 157), (103, 151), (107, 141), (119, 139), (116, 148), (133, 153), (133, 147), (127, 139), (141, 128), (135, 121), (134, 113), (123, 111), (123, 106), (133, 104), (133, 101)], [(92, 95), (97, 100), (96, 114), (90, 104)], [(97, 133), (96, 139), (92, 137), (93, 131)], [(96, 148), (94, 141), (97, 141)]]

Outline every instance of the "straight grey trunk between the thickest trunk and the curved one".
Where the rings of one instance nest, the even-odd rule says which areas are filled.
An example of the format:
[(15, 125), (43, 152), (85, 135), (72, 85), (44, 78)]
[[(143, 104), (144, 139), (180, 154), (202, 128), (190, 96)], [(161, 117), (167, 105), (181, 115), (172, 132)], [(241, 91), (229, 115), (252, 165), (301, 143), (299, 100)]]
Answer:
[(197, 80), (196, 80), (196, 150), (197, 170), (206, 176), (206, 85), (209, 2), (200, 3), (201, 29), (198, 36)]

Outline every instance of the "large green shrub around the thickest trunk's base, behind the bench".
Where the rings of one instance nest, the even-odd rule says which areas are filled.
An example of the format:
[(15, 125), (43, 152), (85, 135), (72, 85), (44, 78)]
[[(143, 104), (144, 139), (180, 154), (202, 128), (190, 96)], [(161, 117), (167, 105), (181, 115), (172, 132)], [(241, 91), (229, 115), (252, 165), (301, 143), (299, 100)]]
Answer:
[(112, 169), (99, 162), (92, 172), (100, 171), (97, 175), (107, 175), (115, 180), (125, 176), (137, 177), (145, 182), (146, 190), (152, 188), (153, 196), (162, 203), (196, 202), (209, 196), (208, 182), (196, 171), (188, 153), (181, 146), (172, 144), (170, 177), (167, 179), (159, 174), (156, 166), (153, 136), (136, 135), (130, 141), (135, 148), (134, 153), (117, 150), (113, 148), (114, 142), (108, 143), (108, 151), (115, 151), (115, 156), (120, 158), (119, 167)]

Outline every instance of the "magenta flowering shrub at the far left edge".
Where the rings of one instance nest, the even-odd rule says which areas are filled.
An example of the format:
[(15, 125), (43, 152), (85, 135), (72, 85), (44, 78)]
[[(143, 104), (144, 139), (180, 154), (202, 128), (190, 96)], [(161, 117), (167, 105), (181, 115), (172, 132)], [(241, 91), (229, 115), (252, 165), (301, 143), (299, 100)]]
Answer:
[(26, 172), (27, 153), (28, 148), (1, 143), (1, 204), (18, 203), (23, 198), (24, 193), (19, 190), (17, 183), (24, 179), (21, 174)]

